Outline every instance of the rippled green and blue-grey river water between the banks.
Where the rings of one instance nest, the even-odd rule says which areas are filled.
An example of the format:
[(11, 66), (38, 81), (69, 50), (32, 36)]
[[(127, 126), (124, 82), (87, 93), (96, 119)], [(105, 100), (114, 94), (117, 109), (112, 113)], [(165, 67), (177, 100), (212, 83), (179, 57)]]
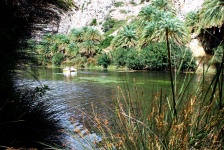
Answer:
[[(21, 84), (31, 87), (47, 85), (44, 99), (52, 105), (52, 109), (60, 110), (58, 116), (62, 126), (68, 131), (67, 145), (70, 149), (93, 149), (94, 144), (101, 138), (92, 131), (84, 128), (83, 113), (92, 113), (92, 107), (97, 107), (98, 113), (107, 113), (105, 104), (112, 103), (118, 87), (130, 91), (144, 93), (142, 98), (149, 98), (150, 93), (165, 89), (170, 90), (168, 72), (116, 72), (99, 70), (78, 70), (71, 76), (64, 75), (62, 69), (38, 68), (36, 76), (40, 82), (27, 72), (23, 73)], [(177, 81), (183, 81), (185, 74), (180, 75)], [(194, 78), (196, 81), (198, 76)], [(177, 83), (178, 84), (178, 83)], [(80, 137), (74, 131), (85, 135)], [(88, 132), (88, 134), (85, 134)]]

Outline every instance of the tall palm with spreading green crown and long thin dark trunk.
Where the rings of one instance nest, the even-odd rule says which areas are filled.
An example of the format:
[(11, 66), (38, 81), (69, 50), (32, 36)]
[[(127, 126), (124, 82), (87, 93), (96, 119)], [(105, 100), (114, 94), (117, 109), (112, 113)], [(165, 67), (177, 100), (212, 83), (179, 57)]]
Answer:
[(157, 27), (151, 36), (151, 39), (157, 39), (158, 41), (166, 41), (167, 52), (168, 52), (168, 63), (170, 69), (171, 88), (173, 95), (173, 111), (176, 116), (176, 100), (175, 90), (172, 75), (171, 66), (171, 52), (170, 52), (170, 41), (173, 41), (177, 45), (181, 45), (189, 40), (188, 30), (184, 26), (184, 23), (174, 17), (171, 13), (164, 13), (161, 20), (157, 23)]

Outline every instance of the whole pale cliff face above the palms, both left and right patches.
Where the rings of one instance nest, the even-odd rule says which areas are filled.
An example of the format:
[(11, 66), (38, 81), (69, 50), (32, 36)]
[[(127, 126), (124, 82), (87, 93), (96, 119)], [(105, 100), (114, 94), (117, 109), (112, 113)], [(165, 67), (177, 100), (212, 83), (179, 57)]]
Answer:
[[(141, 0), (74, 0), (77, 8), (73, 8), (61, 15), (59, 33), (68, 33), (72, 28), (81, 28), (97, 21), (95, 26), (101, 30), (101, 25), (107, 17), (117, 20), (128, 20), (137, 16), (141, 8), (149, 2), (141, 3)], [(178, 14), (183, 18), (188, 12), (198, 10), (204, 0), (172, 0)]]

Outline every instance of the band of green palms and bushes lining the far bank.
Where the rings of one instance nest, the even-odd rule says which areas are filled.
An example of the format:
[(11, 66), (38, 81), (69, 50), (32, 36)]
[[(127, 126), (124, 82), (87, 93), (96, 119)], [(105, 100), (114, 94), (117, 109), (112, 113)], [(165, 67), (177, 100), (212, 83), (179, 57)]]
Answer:
[[(172, 32), (179, 28), (179, 34), (184, 33), (185, 24), (180, 21), (171, 5), (154, 2), (140, 11), (138, 17), (123, 27), (120, 22), (108, 18), (103, 24), (104, 35), (92, 26), (81, 29), (74, 28), (67, 35), (47, 34), (40, 42), (28, 41), (32, 52), (37, 55), (39, 65), (65, 66), (75, 65), (77, 68), (100, 65), (107, 68), (115, 65), (117, 68), (134, 70), (148, 69), (165, 71), (180, 66), (181, 71), (193, 71), (196, 68), (192, 52), (184, 45), (180, 46), (180, 37), (173, 37)], [(163, 6), (164, 5), (164, 6)], [(157, 8), (158, 7), (158, 8)], [(170, 12), (165, 10), (171, 10)], [(168, 17), (168, 18), (167, 18)], [(167, 18), (164, 20), (163, 18)], [(164, 20), (164, 23), (160, 20)], [(160, 37), (154, 31), (165, 33), (165, 23), (170, 22), (169, 44), (171, 45), (171, 68), (168, 67), (166, 54), (167, 43), (165, 35)], [(172, 26), (176, 25), (176, 26)], [(116, 27), (116, 28), (114, 28)], [(115, 36), (109, 35), (118, 29)], [(181, 38), (188, 38), (188, 33)]]

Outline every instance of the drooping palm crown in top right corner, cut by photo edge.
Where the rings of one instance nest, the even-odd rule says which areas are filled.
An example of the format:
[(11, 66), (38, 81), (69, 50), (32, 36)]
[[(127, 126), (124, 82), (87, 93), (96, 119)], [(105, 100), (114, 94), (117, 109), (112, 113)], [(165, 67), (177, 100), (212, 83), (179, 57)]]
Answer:
[(224, 24), (224, 1), (206, 0), (203, 3), (200, 18), (204, 28), (221, 27)]

